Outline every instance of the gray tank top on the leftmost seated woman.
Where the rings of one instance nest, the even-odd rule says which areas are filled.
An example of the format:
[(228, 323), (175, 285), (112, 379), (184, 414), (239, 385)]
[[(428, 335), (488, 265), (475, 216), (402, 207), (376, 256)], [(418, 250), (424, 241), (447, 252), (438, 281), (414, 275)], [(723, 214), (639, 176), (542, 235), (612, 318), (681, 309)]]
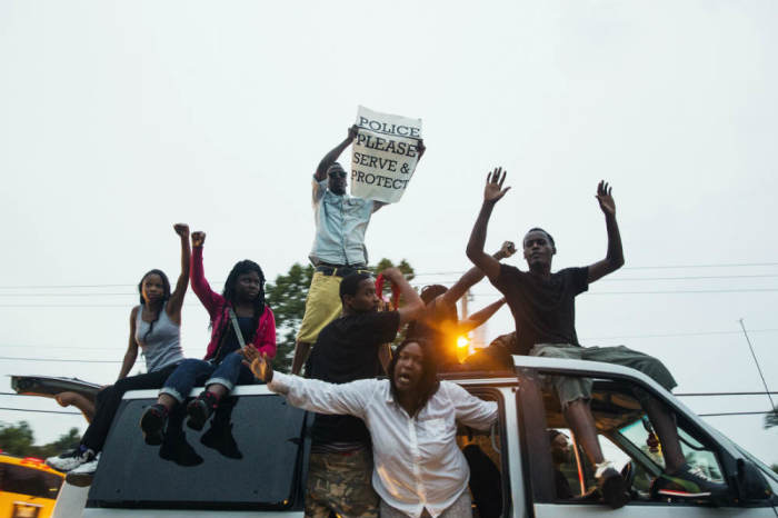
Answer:
[[(167, 302), (162, 305), (159, 311), (159, 318), (153, 322), (151, 332), (146, 333), (151, 327), (150, 322), (144, 322), (141, 318), (142, 308), (138, 308), (136, 317), (136, 341), (140, 345), (146, 358), (146, 371), (153, 372), (172, 363), (178, 363), (183, 360), (183, 350), (181, 349), (181, 329), (173, 323), (164, 310)], [(146, 337), (146, 341), (143, 341)]]

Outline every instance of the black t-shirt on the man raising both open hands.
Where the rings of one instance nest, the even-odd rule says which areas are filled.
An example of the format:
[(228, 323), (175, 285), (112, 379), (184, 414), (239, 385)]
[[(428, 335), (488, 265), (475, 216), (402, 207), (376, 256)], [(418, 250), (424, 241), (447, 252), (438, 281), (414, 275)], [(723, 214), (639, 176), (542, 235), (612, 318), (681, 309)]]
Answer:
[(566, 268), (548, 279), (500, 265), (492, 283), (506, 297), (516, 321), (515, 355), (528, 355), (537, 343), (579, 346), (576, 296), (589, 289), (588, 268)]

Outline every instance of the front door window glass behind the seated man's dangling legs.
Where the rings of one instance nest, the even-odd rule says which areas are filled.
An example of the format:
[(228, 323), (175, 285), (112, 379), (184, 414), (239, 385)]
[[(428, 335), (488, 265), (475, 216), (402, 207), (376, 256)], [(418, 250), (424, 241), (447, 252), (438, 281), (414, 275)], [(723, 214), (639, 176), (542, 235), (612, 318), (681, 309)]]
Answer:
[[(601, 505), (596, 491), (595, 468), (569, 429), (555, 388), (546, 375), (533, 376), (531, 383), (537, 389), (536, 400), (541, 401), (536, 405), (536, 408), (540, 408), (536, 422), (541, 422), (545, 429), (536, 431), (536, 448), (528, 450), (527, 456), (530, 458), (533, 484), (551, 486), (545, 491), (543, 488), (533, 487), (536, 501)], [(672, 505), (682, 501), (684, 505), (694, 505), (689, 499), (676, 501), (655, 490), (654, 481), (664, 472), (665, 459), (661, 444), (641, 405), (646, 397), (654, 396), (629, 381), (594, 379), (590, 408), (602, 454), (616, 464), (628, 481), (631, 502)], [(521, 404), (526, 411), (532, 405), (527, 397)], [(698, 468), (710, 480), (724, 482), (715, 445), (682, 416), (678, 416), (677, 426), (687, 464)], [(553, 437), (559, 434), (563, 438), (555, 442)], [(563, 442), (567, 442), (567, 447)], [(540, 452), (540, 446), (548, 449)], [(542, 477), (538, 474), (542, 474)]]

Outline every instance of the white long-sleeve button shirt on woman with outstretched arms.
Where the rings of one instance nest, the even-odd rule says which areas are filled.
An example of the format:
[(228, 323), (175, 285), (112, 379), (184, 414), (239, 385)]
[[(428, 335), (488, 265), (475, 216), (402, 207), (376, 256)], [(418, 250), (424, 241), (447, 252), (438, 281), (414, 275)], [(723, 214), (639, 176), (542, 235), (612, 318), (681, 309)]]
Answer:
[(470, 470), (456, 441), (457, 421), (488, 429), (497, 404), (483, 401), (449, 381), (415, 416), (395, 402), (389, 380), (360, 379), (333, 385), (273, 372), (268, 388), (289, 404), (319, 414), (361, 418), (372, 439), (372, 486), (391, 507), (437, 517), (467, 490)]

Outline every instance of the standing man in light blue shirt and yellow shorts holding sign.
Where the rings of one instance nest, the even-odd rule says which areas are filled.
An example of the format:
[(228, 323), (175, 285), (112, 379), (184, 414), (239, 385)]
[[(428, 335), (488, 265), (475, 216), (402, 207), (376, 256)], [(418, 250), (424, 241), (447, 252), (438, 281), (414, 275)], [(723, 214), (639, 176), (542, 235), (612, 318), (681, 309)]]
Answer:
[[(357, 137), (357, 130), (356, 124), (349, 128), (346, 139), (321, 159), (313, 175), (316, 236), (308, 257), (316, 271), (297, 333), (292, 359), (295, 375), (300, 372), (321, 329), (340, 315), (338, 286), (341, 279), (353, 272), (369, 273), (365, 232), (372, 213), (386, 203), (349, 196), (346, 192), (346, 170), (337, 162)], [(421, 159), (425, 153), (421, 140), (415, 152)]]

